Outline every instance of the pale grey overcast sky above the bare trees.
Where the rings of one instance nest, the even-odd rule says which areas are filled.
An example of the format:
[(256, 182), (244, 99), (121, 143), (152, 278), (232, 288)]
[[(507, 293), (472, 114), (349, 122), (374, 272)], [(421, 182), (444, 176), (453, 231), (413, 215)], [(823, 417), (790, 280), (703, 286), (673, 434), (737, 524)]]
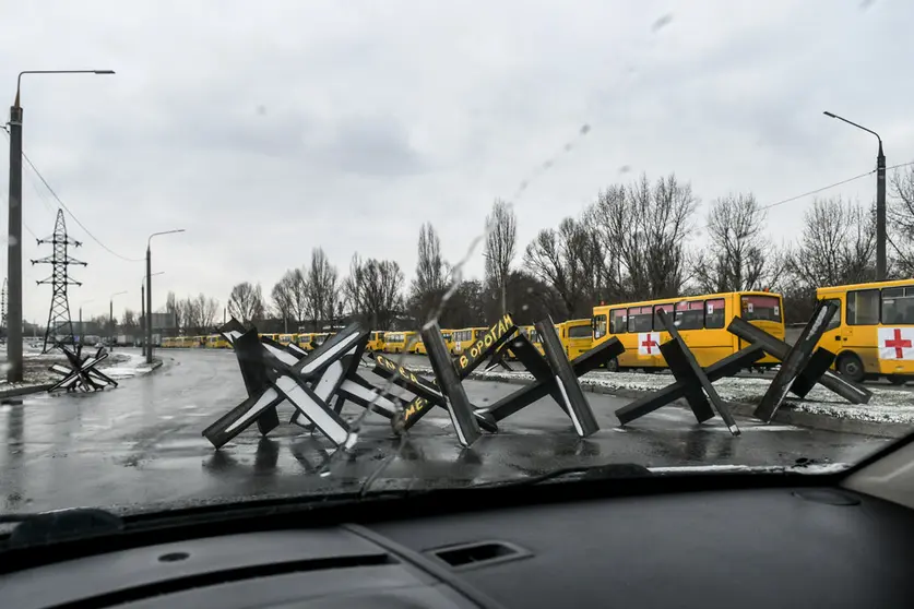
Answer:
[[(703, 213), (728, 192), (773, 203), (871, 169), (875, 140), (824, 109), (879, 131), (889, 165), (914, 159), (904, 0), (0, 7), (4, 100), (21, 70), (117, 71), (24, 76), (24, 150), (124, 258), (187, 229), (153, 241), (154, 308), (168, 290), (225, 304), (241, 280), (269, 294), (316, 246), (341, 274), (358, 251), (408, 280), (423, 222), (455, 261), (492, 200), (532, 176), (514, 201), (521, 247), (642, 171), (690, 181)], [(49, 235), (57, 203), (27, 167), (23, 193), (28, 229)], [(870, 201), (875, 177), (824, 194), (839, 193)], [(810, 203), (771, 210), (776, 239)], [(73, 272), (73, 317), (107, 313), (121, 290), (117, 314), (138, 309), (142, 263), (67, 222), (90, 263)], [(24, 314), (44, 323), (50, 286), (35, 280), (50, 267), (27, 261), (50, 247), (28, 229)], [(5, 276), (5, 248), (0, 262)], [(477, 252), (468, 270), (482, 267)]]

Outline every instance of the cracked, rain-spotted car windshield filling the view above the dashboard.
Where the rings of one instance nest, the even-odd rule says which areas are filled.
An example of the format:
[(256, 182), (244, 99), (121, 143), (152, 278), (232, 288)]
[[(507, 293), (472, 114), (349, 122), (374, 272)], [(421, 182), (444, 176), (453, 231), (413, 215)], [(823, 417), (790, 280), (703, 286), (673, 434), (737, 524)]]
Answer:
[(0, 513), (905, 437), (914, 5), (725, 16), (8, 3)]

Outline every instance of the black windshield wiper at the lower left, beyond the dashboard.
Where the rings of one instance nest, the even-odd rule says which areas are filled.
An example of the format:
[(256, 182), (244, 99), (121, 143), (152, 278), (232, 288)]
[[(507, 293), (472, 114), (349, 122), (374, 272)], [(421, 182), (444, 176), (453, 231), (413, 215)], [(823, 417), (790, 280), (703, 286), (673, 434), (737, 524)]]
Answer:
[(5, 549), (56, 544), (123, 530), (123, 521), (105, 510), (73, 507), (37, 514), (0, 514), (0, 524), (13, 524), (13, 530), (0, 544)]

